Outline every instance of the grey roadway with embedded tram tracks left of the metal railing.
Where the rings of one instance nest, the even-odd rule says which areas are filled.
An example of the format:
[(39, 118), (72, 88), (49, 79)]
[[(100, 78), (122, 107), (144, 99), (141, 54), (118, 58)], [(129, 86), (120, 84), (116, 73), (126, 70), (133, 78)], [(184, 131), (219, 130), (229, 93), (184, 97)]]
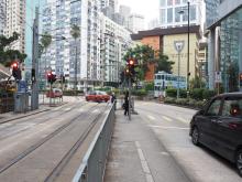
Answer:
[(0, 181), (72, 181), (110, 106), (76, 99), (0, 125)]

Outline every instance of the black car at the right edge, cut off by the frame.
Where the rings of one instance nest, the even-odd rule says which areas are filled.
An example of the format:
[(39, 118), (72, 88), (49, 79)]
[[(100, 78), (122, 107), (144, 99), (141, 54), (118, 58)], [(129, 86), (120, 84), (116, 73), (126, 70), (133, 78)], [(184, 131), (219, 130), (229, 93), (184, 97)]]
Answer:
[(242, 176), (242, 93), (222, 94), (190, 121), (191, 141), (202, 143), (237, 164)]

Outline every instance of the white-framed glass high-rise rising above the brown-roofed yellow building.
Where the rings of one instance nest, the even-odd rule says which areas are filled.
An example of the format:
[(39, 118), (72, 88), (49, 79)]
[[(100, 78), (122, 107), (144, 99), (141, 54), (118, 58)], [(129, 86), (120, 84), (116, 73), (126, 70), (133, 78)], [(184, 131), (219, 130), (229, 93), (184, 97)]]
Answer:
[[(160, 26), (163, 29), (187, 25), (188, 0), (160, 0)], [(202, 25), (204, 0), (189, 0), (190, 25)], [(184, 13), (180, 13), (183, 10)]]

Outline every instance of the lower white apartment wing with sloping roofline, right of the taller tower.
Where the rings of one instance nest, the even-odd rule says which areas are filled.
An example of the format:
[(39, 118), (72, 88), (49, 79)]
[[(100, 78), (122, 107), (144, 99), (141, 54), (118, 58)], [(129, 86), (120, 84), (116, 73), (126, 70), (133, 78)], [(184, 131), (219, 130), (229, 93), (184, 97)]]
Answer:
[(102, 81), (114, 86), (120, 82), (124, 53), (131, 46), (131, 32), (106, 15), (101, 15)]

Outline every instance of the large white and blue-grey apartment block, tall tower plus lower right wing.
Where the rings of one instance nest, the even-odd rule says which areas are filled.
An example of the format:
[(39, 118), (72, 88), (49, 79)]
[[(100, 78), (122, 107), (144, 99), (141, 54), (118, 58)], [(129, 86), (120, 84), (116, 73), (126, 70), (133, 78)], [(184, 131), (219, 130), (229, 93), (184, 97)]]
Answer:
[[(100, 1), (48, 0), (43, 10), (43, 33), (52, 43), (41, 58), (42, 77), (52, 71), (65, 76), (66, 87), (87, 90), (95, 85), (119, 79), (119, 66), (130, 32), (101, 12)], [(80, 36), (72, 36), (72, 25)]]

